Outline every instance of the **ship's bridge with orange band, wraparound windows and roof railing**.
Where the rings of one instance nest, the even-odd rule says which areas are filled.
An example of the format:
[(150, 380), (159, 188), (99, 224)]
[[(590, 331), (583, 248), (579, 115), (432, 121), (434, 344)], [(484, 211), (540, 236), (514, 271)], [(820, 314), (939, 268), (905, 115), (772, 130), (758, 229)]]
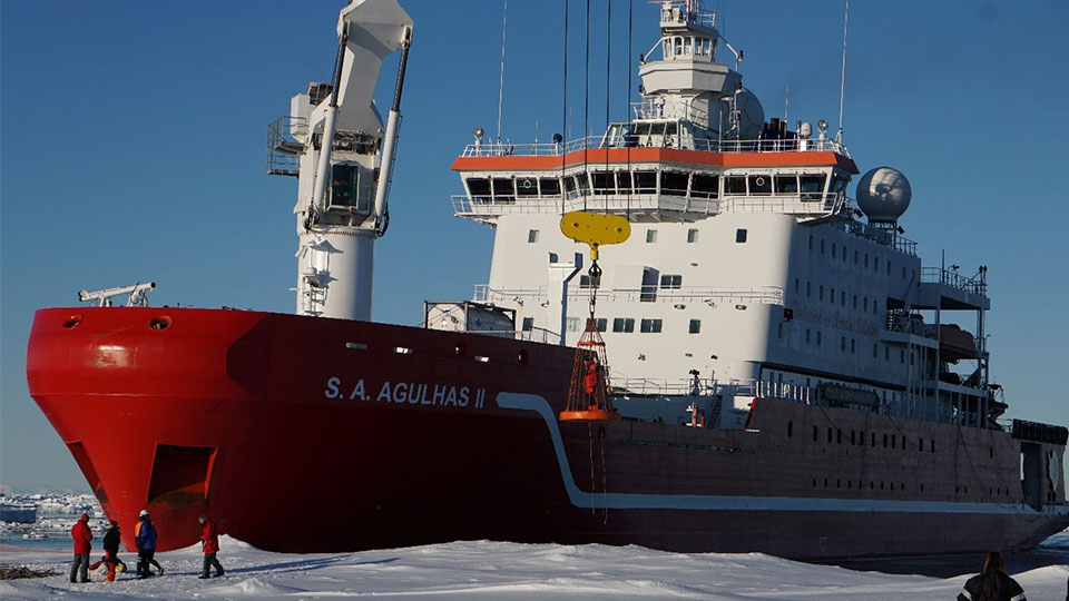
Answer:
[[(464, 185), (458, 217), (493, 223), (510, 214), (596, 208), (635, 220), (695, 220), (726, 211), (822, 218), (851, 210), (857, 174), (842, 145), (786, 135), (777, 119), (754, 140), (722, 140), (693, 108), (640, 102), (644, 117), (601, 136), (549, 144), (468, 145), (453, 162)], [(700, 135), (698, 135), (700, 134)]]

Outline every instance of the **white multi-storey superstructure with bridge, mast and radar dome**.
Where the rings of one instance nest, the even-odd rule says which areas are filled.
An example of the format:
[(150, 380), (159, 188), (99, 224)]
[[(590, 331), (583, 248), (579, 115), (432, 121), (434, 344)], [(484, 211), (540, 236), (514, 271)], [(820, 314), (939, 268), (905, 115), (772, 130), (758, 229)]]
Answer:
[[(560, 233), (560, 215), (625, 215), (631, 238), (601, 254), (597, 304), (625, 393), (732, 383), (739, 393), (724, 403), (739, 411), (753, 391), (774, 391), (987, 425), (1001, 404), (988, 386), (985, 268), (922, 268), (898, 226), (905, 178), (866, 174), (859, 208), (846, 194), (859, 170), (827, 124), (764, 122), (742, 76), (717, 62), (722, 47), (735, 67), (741, 53), (715, 23), (696, 1), (663, 3), (643, 98), (604, 136), (463, 150), (455, 215), (496, 231), (474, 300), (514, 311), (520, 332), (575, 344), (594, 283), (561, 276), (583, 248)], [(975, 336), (949, 326), (949, 309), (970, 312)]]

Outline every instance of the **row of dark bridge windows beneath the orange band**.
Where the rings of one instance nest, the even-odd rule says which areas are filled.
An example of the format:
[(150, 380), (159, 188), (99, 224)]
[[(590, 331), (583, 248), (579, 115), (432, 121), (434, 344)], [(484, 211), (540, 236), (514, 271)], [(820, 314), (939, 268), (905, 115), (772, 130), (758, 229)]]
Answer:
[[(723, 180), (723, 181), (722, 181)], [(724, 196), (800, 196), (821, 200), (825, 191), (844, 194), (850, 177), (834, 174), (807, 175), (718, 175), (678, 170), (583, 171), (560, 177), (469, 177), (468, 194), (477, 203), (514, 203), (517, 198), (559, 198), (568, 196), (608, 196), (661, 194), (692, 198)]]

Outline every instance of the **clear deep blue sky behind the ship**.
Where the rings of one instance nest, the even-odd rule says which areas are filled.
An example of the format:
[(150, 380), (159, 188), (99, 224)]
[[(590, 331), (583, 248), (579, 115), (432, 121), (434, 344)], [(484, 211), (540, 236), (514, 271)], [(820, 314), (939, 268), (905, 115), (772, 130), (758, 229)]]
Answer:
[[(33, 312), (81, 288), (155, 280), (153, 304), (292, 312), (296, 181), (264, 173), (267, 124), (328, 80), (343, 2), (0, 4), (0, 483), (86, 490), (29, 397)], [(424, 298), (467, 298), (492, 231), (452, 217), (449, 165), (497, 121), (501, 2), (403, 2), (415, 20), (376, 321), (414, 325)], [(657, 8), (612, 2), (609, 109), (656, 41)], [(570, 12), (570, 134), (582, 131), (583, 11)], [(606, 111), (606, 0), (591, 0), (590, 128)], [(842, 1), (719, 0), (766, 116), (834, 125)], [(509, 4), (502, 137), (561, 130), (563, 1)], [(864, 173), (902, 170), (902, 219), (925, 265), (990, 267), (992, 374), (1010, 416), (1069, 423), (1069, 61), (1063, 0), (855, 1), (845, 141)], [(380, 81), (392, 93), (395, 60)], [(638, 87), (637, 75), (631, 78)], [(853, 186), (851, 187), (853, 194)], [(963, 324), (964, 325), (964, 324)]]

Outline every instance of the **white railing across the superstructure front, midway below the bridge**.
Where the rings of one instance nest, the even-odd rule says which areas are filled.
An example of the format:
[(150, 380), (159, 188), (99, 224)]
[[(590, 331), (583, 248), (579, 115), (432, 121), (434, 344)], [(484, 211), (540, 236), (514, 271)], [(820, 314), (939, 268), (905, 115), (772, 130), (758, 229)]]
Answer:
[[(568, 299), (576, 300), (589, 296), (590, 288), (578, 286), (568, 287)], [(494, 289), (489, 285), (475, 286), (473, 300), (477, 303), (517, 303), (521, 300), (545, 300), (548, 298), (545, 287), (538, 288), (508, 288)], [(598, 298), (624, 303), (754, 303), (761, 305), (783, 305), (783, 288), (776, 286), (756, 286), (751, 288), (714, 288), (694, 286), (684, 288), (658, 288), (648, 286), (641, 288), (599, 288)]]

